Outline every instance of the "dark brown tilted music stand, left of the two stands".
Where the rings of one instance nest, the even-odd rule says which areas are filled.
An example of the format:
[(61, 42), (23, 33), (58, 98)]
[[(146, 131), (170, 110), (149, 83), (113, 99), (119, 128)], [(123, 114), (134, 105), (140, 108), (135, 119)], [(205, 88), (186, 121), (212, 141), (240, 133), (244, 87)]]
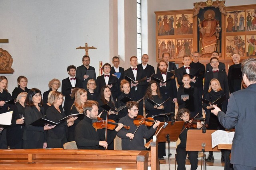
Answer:
[(184, 125), (184, 121), (176, 121), (173, 125), (171, 125), (171, 121), (168, 122), (168, 125), (163, 128), (165, 122), (160, 122), (159, 126), (156, 129), (156, 139), (158, 142), (166, 142), (168, 141), (168, 163), (170, 170), (170, 141), (175, 142), (178, 140), (180, 136), (181, 129)]

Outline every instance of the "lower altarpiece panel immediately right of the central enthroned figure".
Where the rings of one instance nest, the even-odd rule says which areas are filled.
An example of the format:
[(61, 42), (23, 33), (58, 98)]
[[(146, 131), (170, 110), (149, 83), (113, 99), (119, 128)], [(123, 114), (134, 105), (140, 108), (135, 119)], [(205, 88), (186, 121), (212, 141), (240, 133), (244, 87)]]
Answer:
[(226, 57), (239, 54), (245, 57), (245, 35), (226, 36)]

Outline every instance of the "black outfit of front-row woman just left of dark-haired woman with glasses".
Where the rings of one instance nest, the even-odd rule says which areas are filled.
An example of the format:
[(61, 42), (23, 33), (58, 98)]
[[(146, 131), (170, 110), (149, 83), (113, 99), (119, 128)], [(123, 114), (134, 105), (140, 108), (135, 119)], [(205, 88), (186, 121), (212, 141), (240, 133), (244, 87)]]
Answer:
[(13, 105), (12, 125), (7, 128), (7, 144), (10, 149), (23, 149), (22, 135), (25, 123), (16, 124), (16, 120), (22, 117), (24, 117), (24, 107), (17, 102), (16, 105)]

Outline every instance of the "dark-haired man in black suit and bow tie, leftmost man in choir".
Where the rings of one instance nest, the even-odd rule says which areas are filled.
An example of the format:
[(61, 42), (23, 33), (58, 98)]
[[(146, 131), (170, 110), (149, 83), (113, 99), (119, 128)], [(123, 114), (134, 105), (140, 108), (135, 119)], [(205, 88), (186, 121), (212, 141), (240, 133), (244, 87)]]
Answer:
[[(67, 68), (68, 71), (68, 78), (65, 78), (62, 80), (62, 86), (61, 86), (61, 92), (63, 96), (65, 96), (65, 102), (64, 102), (64, 112), (67, 113), (68, 109), (71, 109), (68, 107), (68, 103), (71, 100), (71, 93), (74, 88), (71, 87), (78, 87), (82, 88), (82, 81), (79, 78), (76, 78), (76, 66), (70, 65)], [(69, 112), (68, 112), (69, 113)]]

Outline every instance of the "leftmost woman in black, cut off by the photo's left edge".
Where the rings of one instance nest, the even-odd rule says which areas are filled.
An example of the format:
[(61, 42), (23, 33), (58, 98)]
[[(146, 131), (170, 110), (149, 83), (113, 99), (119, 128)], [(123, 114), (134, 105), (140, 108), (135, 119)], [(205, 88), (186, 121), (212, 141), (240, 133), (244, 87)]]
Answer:
[[(0, 76), (0, 114), (5, 113), (9, 109), (9, 104), (5, 102), (12, 99), (7, 90), (8, 80), (5, 76)], [(0, 149), (7, 149), (6, 129), (0, 128)]]

